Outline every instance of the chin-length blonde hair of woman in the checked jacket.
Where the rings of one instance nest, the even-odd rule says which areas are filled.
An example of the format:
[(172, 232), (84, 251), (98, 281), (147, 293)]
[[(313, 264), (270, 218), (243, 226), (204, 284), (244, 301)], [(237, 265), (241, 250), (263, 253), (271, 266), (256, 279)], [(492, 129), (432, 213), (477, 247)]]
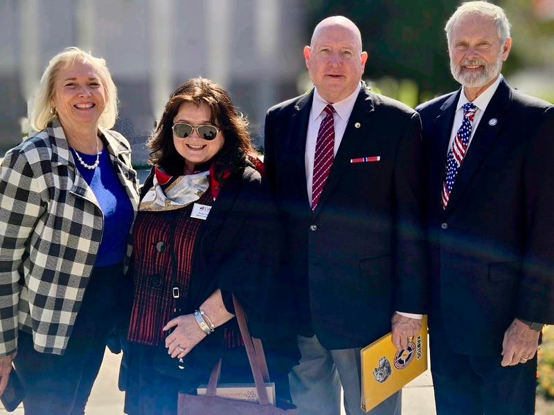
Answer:
[(48, 63), (48, 66), (46, 66), (40, 78), (40, 84), (33, 100), (33, 111), (30, 114), (30, 124), (35, 131), (45, 129), (46, 124), (55, 117), (52, 98), (54, 96), (56, 77), (62, 68), (70, 66), (75, 61), (87, 62), (98, 71), (106, 93), (106, 106), (98, 119), (98, 125), (105, 129), (114, 127), (118, 112), (117, 88), (111, 79), (106, 61), (100, 57), (93, 57), (90, 53), (72, 46), (65, 48), (62, 52), (55, 55)]

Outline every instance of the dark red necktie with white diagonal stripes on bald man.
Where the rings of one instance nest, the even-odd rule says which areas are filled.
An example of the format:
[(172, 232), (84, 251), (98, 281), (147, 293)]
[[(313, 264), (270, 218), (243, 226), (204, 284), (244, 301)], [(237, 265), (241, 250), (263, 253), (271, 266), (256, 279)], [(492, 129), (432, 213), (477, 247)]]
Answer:
[(334, 108), (331, 104), (325, 107), (325, 118), (319, 124), (316, 151), (314, 154), (314, 178), (312, 181), (312, 212), (317, 207), (323, 186), (329, 176), (334, 154)]

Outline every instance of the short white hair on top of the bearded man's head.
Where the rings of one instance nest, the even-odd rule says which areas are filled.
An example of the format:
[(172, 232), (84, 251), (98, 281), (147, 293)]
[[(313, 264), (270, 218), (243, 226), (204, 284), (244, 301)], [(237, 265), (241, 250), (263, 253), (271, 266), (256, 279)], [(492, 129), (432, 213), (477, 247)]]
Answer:
[(510, 37), (510, 21), (508, 21), (508, 17), (506, 17), (506, 13), (501, 7), (488, 3), (488, 1), (467, 1), (456, 9), (454, 15), (446, 23), (445, 32), (448, 44), (452, 39), (452, 30), (456, 25), (456, 21), (465, 16), (490, 17), (497, 25), (498, 37), (502, 45)]

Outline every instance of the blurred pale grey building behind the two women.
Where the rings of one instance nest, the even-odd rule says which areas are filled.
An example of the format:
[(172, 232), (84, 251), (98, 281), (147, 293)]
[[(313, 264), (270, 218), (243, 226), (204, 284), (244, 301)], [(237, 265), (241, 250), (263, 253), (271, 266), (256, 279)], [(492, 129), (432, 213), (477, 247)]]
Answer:
[(300, 0), (0, 0), (0, 156), (48, 60), (67, 46), (104, 57), (118, 86), (116, 129), (135, 163), (169, 94), (190, 77), (231, 92), (260, 137), (267, 108), (296, 95), (303, 72)]

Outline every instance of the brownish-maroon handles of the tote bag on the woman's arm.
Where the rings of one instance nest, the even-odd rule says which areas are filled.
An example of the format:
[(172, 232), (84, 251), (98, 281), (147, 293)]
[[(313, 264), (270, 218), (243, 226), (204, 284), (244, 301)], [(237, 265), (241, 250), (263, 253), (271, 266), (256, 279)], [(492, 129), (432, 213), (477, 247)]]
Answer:
[[(250, 331), (244, 315), (244, 309), (238, 302), (237, 297), (233, 294), (233, 305), (235, 306), (235, 317), (237, 318), (238, 327), (240, 329), (240, 335), (244, 342), (244, 349), (247, 351), (248, 361), (250, 363), (250, 369), (254, 377), (254, 383), (256, 383), (256, 391), (258, 391), (258, 400), (260, 405), (269, 405), (269, 398), (267, 397), (267, 389), (265, 389), (265, 380), (269, 380), (269, 372), (267, 371), (267, 362), (265, 360), (265, 354), (263, 351), (262, 342), (259, 339), (251, 338)], [(258, 342), (256, 342), (258, 340)], [(258, 344), (256, 344), (258, 343)], [(208, 381), (208, 388), (206, 389), (206, 396), (213, 398), (217, 389), (217, 383), (221, 376), (221, 359), (215, 364)]]

